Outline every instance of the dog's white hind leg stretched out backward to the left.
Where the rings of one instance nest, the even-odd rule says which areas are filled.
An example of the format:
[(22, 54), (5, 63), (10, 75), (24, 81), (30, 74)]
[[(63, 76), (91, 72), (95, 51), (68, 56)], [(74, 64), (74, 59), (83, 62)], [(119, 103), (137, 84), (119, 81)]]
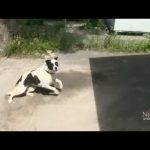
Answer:
[(21, 95), (23, 93), (25, 93), (27, 90), (27, 87), (23, 86), (23, 85), (17, 85), (12, 92), (10, 92), (10, 97), (8, 99), (8, 103), (13, 102), (13, 98), (15, 96)]

